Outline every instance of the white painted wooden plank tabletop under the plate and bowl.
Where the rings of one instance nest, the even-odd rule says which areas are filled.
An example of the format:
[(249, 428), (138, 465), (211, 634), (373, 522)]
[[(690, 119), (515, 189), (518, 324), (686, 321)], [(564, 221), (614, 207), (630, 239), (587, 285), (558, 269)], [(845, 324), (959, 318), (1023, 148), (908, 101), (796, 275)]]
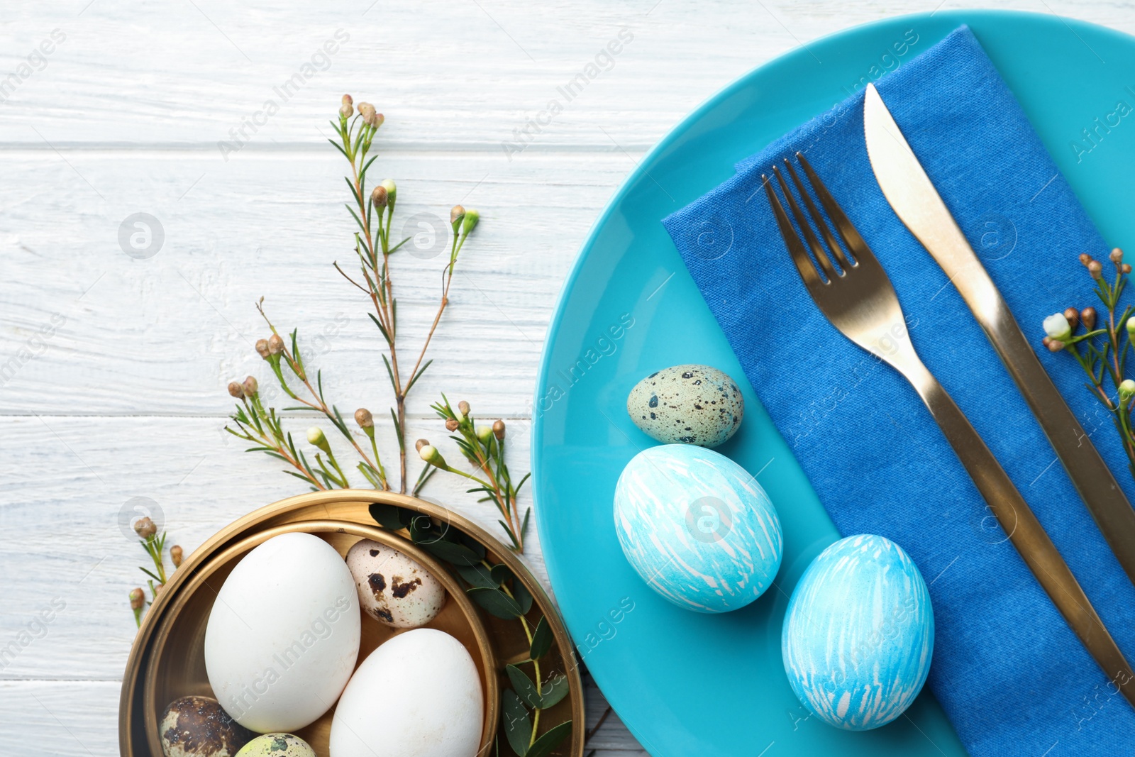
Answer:
[[(428, 407), (440, 392), (523, 429), (564, 275), (645, 151), (754, 66), (935, 5), (8, 0), (0, 754), (116, 754), (134, 636), (126, 594), (144, 564), (119, 528), (129, 498), (157, 502), (170, 542), (188, 552), (303, 490), (221, 430), (226, 384), (247, 373), (268, 384), (252, 348), (266, 335), (258, 297), (279, 325), (301, 328), (330, 398), (386, 415), (378, 335), (331, 268), (353, 255), (345, 163), (325, 141), (342, 93), (386, 115), (373, 175), (397, 180), (402, 219), (445, 216), (456, 202), (482, 213), (436, 362), (415, 387), (410, 438), (444, 436)], [(1132, 2), (1011, 5), (1135, 32)], [(613, 40), (620, 52), (597, 59)], [(568, 101), (561, 87), (591, 64), (599, 73)], [(119, 244), (136, 212), (165, 235), (149, 259)], [(407, 344), (421, 337), (439, 269), (398, 263)], [(393, 444), (384, 431), (387, 460)], [(514, 434), (512, 464), (527, 470), (527, 456)], [(438, 476), (428, 494), (494, 523), (463, 489)], [(527, 556), (544, 577), (535, 538)], [(604, 707), (591, 690), (590, 722)], [(603, 757), (645, 754), (616, 717), (591, 746)]]

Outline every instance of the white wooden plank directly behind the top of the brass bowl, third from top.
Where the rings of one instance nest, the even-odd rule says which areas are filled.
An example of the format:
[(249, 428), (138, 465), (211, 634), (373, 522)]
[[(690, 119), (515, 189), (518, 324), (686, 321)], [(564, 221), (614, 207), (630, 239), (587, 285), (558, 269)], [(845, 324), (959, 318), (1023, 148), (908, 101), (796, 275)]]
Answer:
[[(293, 424), (300, 436), (308, 422)], [(188, 554), (238, 516), (305, 490), (277, 472), (277, 461), (242, 452), (245, 445), (221, 426), (216, 418), (0, 418), (7, 453), (0, 575), (9, 577), (0, 613), (0, 680), (121, 676), (134, 639), (127, 592), (144, 578), (137, 566), (148, 564), (136, 538), (119, 524), (133, 498), (152, 501), (146, 504), (160, 508), (169, 544)], [(430, 437), (452, 464), (460, 461), (440, 421), (414, 422), (410, 431), (411, 439)], [(329, 428), (328, 438), (346, 462), (346, 443)], [(510, 463), (522, 474), (528, 437), (508, 440)], [(385, 435), (380, 452), (387, 461), (396, 460), (395, 448)], [(496, 510), (477, 503), (466, 488), (465, 479), (438, 473), (424, 494), (499, 532)], [(526, 491), (521, 506), (530, 504)], [(526, 562), (546, 583), (535, 525)]]

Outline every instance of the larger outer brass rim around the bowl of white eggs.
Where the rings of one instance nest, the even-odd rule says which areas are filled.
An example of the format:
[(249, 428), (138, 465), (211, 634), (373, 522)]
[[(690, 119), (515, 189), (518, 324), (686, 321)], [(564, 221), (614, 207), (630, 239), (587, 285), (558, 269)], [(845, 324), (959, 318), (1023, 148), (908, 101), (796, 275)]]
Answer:
[(177, 589), (187, 580), (187, 577), (192, 575), (196, 569), (209, 558), (213, 552), (224, 547), (226, 542), (238, 539), (244, 531), (255, 528), (258, 524), (262, 524), (268, 519), (284, 518), (291, 511), (297, 511), (312, 505), (327, 505), (331, 503), (359, 503), (360, 505), (381, 503), (418, 511), (426, 515), (447, 520), (457, 529), (464, 531), (469, 536), (472, 536), (477, 539), (477, 541), (488, 546), (503, 563), (508, 565), (513, 574), (524, 582), (524, 586), (532, 594), (536, 604), (540, 607), (541, 614), (547, 619), (548, 624), (552, 626), (552, 634), (555, 638), (556, 647), (558, 648), (565, 663), (564, 667), (566, 670), (564, 671), (564, 674), (568, 676), (569, 682), (569, 699), (571, 700), (572, 710), (570, 754), (571, 757), (582, 757), (583, 737), (586, 730), (583, 682), (580, 678), (579, 664), (575, 658), (575, 647), (571, 641), (571, 637), (568, 634), (568, 629), (564, 626), (563, 620), (560, 617), (560, 612), (552, 603), (552, 599), (548, 597), (547, 591), (545, 591), (544, 586), (531, 574), (531, 571), (527, 565), (524, 565), (520, 557), (518, 557), (511, 549), (502, 544), (499, 539), (488, 533), (479, 524), (435, 502), (411, 497), (404, 494), (380, 491), (376, 489), (335, 489), (331, 491), (311, 491), (279, 499), (233, 521), (202, 542), (200, 547), (194, 549), (193, 553), (186, 557), (182, 566), (174, 573), (173, 579), (170, 579), (170, 581), (166, 584), (166, 589), (158, 596), (158, 599), (153, 603), (153, 605), (151, 605), (150, 611), (145, 614), (145, 617), (142, 621), (142, 626), (138, 630), (137, 637), (135, 638), (134, 645), (131, 647), (131, 653), (126, 661), (126, 668), (123, 674), (123, 689), (119, 695), (118, 707), (118, 741), (121, 755), (124, 757), (134, 757), (132, 733), (134, 725), (134, 699), (136, 687), (141, 678), (140, 667), (149, 656), (150, 637), (153, 634), (154, 626), (158, 624), (160, 617), (166, 611), (166, 606), (169, 604), (169, 596), (175, 594), (171, 589)]

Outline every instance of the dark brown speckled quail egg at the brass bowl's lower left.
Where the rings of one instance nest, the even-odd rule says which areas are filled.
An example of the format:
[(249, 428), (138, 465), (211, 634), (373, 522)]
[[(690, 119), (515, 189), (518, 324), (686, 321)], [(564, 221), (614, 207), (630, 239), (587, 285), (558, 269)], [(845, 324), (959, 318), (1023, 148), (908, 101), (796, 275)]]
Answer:
[(210, 697), (169, 703), (158, 730), (166, 757), (234, 757), (254, 735)]

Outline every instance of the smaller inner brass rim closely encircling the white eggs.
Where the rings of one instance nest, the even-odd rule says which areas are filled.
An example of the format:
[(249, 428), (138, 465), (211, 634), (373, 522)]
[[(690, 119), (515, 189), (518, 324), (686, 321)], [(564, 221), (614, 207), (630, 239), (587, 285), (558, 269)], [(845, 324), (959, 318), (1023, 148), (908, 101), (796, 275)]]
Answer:
[[(462, 615), (464, 615), (465, 620), (472, 628), (473, 637), (477, 639), (477, 647), (480, 651), (481, 662), (485, 667), (485, 678), (481, 681), (481, 685), (485, 690), (486, 701), (481, 724), (481, 746), (477, 750), (477, 755), (478, 757), (487, 755), (493, 748), (493, 739), (496, 734), (494, 726), (496, 725), (501, 700), (501, 687), (497, 678), (498, 661), (496, 658), (496, 651), (493, 649), (491, 637), (485, 628), (481, 616), (473, 606), (473, 603), (469, 599), (469, 596), (457, 583), (456, 579), (453, 578), (453, 574), (445, 570), (437, 558), (409, 539), (403, 539), (402, 537), (398, 537), (388, 530), (381, 529), (378, 525), (364, 525), (362, 523), (353, 523), (351, 521), (340, 520), (293, 521), (289, 523), (274, 525), (262, 531), (257, 531), (255, 533), (252, 533), (235, 544), (228, 545), (221, 552), (215, 554), (209, 558), (209, 561), (200, 566), (200, 570), (197, 570), (192, 578), (179, 587), (177, 597), (170, 602), (166, 614), (162, 616), (161, 622), (154, 631), (153, 641), (151, 644), (151, 654), (146, 663), (145, 678), (143, 679), (142, 684), (142, 703), (146, 721), (146, 737), (150, 743), (151, 754), (162, 754), (161, 732), (158, 723), (158, 705), (154, 699), (154, 692), (158, 685), (159, 661), (162, 658), (166, 642), (169, 640), (174, 625), (176, 624), (182, 611), (184, 611), (185, 605), (195, 592), (201, 590), (202, 584), (209, 580), (219, 565), (236, 560), (239, 555), (246, 554), (269, 539), (284, 533), (350, 533), (351, 536), (371, 539), (393, 549), (398, 549), (415, 562), (421, 563), (430, 575), (442, 582), (445, 587), (446, 594), (448, 594), (449, 598), (456, 602), (457, 606), (461, 607)], [(243, 560), (243, 557), (241, 557), (241, 560)], [(210, 566), (212, 567), (210, 569)], [(361, 620), (363, 623), (368, 622), (368, 619), (365, 617)], [(372, 622), (377, 623), (378, 621)], [(404, 633), (409, 630), (412, 629), (398, 629), (395, 636)]]

